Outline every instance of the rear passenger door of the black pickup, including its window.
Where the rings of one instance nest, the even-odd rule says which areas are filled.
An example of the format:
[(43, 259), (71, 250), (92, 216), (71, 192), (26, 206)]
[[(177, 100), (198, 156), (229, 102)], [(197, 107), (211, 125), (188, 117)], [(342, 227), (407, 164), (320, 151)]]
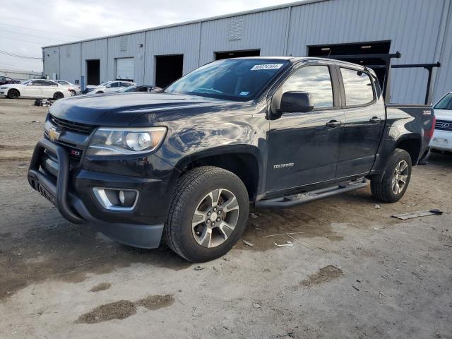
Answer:
[(367, 174), (374, 164), (383, 133), (386, 110), (377, 98), (376, 79), (363, 68), (338, 66), (345, 126), (336, 177)]

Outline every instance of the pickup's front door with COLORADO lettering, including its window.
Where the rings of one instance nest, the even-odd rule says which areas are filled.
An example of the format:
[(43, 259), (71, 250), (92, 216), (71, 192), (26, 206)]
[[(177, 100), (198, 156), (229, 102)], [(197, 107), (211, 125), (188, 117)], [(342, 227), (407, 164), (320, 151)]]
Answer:
[(309, 92), (314, 110), (283, 113), (270, 121), (266, 191), (335, 178), (345, 118), (338, 94), (333, 91), (333, 72), (333, 64), (301, 66), (273, 95), (272, 100), (278, 100), (287, 91)]

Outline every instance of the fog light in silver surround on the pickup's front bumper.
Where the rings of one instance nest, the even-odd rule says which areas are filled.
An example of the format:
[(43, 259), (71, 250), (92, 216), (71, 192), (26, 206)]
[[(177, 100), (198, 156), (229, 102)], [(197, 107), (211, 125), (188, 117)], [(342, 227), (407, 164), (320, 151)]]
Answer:
[(107, 210), (133, 210), (138, 201), (136, 189), (107, 189), (93, 187), (97, 201)]

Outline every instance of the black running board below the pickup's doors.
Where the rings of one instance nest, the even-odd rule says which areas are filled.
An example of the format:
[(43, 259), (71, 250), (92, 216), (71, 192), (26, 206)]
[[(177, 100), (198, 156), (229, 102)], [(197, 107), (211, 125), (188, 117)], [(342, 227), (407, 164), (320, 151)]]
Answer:
[(287, 208), (303, 203), (309, 203), (328, 196), (335, 196), (349, 191), (355, 191), (355, 189), (363, 189), (367, 186), (367, 179), (359, 179), (353, 182), (346, 182), (344, 184), (338, 184), (325, 189), (316, 189), (314, 191), (304, 192), (301, 194), (292, 194), (289, 196), (280, 196), (278, 198), (271, 198), (267, 200), (256, 201), (254, 206), (256, 208)]

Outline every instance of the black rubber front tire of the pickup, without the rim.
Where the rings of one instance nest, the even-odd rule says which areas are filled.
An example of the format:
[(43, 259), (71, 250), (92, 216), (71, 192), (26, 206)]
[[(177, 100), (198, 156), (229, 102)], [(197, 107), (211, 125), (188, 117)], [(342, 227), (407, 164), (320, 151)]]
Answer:
[[(218, 246), (205, 247), (196, 242), (192, 231), (192, 219), (203, 197), (216, 189), (232, 192), (239, 206), (237, 223)], [(194, 262), (210, 261), (226, 254), (236, 244), (246, 226), (249, 214), (249, 197), (242, 180), (225, 169), (203, 166), (184, 174), (174, 191), (163, 239), (174, 252)]]

